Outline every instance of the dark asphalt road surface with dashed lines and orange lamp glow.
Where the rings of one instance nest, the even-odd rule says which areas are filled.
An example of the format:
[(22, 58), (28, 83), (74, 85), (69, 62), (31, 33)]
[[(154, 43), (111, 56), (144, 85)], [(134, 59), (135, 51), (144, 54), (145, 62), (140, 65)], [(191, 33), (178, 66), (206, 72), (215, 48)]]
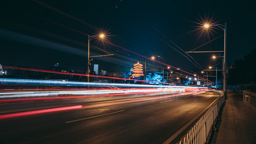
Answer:
[[(167, 96), (0, 104), (0, 115), (82, 105), (78, 109), (0, 120), (0, 144), (162, 144), (185, 124), (192, 126), (218, 97), (211, 92)], [(184, 132), (172, 143), (176, 143)]]

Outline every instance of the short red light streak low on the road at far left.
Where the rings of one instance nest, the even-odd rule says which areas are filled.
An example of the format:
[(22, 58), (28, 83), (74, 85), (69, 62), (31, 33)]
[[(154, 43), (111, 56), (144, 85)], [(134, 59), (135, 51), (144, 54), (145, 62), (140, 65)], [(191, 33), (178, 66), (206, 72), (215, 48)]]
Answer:
[(19, 112), (19, 113), (12, 113), (12, 114), (0, 115), (0, 120), (2, 120), (2, 119), (9, 119), (9, 118), (16, 118), (16, 117), (22, 117), (22, 116), (35, 115), (35, 114), (41, 114), (41, 113), (49, 113), (49, 112), (56, 112), (56, 111), (63, 111), (63, 110), (78, 109), (78, 108), (82, 108), (82, 105), (70, 106), (70, 107), (62, 107), (62, 108), (41, 109), (41, 110), (26, 111), (26, 112)]

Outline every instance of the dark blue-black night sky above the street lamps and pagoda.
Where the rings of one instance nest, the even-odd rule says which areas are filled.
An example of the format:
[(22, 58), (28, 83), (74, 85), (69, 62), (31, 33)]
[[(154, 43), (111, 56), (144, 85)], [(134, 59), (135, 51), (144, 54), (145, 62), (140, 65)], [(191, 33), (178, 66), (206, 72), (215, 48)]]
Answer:
[[(190, 53), (202, 68), (184, 53), (218, 36), (196, 50), (223, 50), (222, 30), (197, 30), (201, 22), (211, 21), (227, 23), (229, 66), (256, 48), (255, 7), (254, 0), (4, 0), (0, 64), (48, 70), (58, 62), (85, 71), (87, 35), (104, 30), (108, 35), (103, 41), (90, 41), (114, 54), (91, 62), (100, 70), (127, 72), (135, 62), (144, 63), (139, 55), (159, 56), (158, 61), (187, 72), (218, 63), (222, 67), (222, 60), (210, 57), (223, 53)], [(90, 46), (92, 56), (107, 54), (94, 46)], [(149, 69), (165, 67), (150, 60), (147, 64)]]

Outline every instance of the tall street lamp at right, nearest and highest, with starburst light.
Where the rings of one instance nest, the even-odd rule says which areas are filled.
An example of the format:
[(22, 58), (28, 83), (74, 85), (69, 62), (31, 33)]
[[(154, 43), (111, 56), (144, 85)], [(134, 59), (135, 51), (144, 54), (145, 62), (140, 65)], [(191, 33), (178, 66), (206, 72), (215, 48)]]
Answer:
[(223, 92), (224, 92), (225, 99), (227, 99), (227, 75), (226, 75), (226, 73), (227, 73), (226, 72), (227, 71), (226, 70), (227, 69), (227, 66), (226, 66), (227, 23), (225, 23), (224, 25), (222, 25), (222, 24), (210, 24), (210, 25), (205, 24), (204, 26), (206, 28), (217, 26), (224, 31)]

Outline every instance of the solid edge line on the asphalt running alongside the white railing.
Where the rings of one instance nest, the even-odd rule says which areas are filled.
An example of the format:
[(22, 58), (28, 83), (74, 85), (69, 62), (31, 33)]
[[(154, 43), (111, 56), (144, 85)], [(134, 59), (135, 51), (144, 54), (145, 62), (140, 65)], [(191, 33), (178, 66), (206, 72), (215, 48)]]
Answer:
[[(218, 95), (218, 94), (217, 94)], [(219, 96), (219, 95), (218, 95)], [(184, 125), (178, 132), (174, 133), (168, 140), (166, 140), (163, 144), (170, 144), (171, 141), (173, 141), (179, 134), (181, 134), (189, 125), (192, 124), (193, 121), (195, 121), (201, 114), (203, 114), (208, 108), (210, 108), (219, 97), (217, 97), (207, 108), (205, 108), (203, 111), (201, 111), (198, 115), (194, 117), (194, 119), (190, 120), (186, 125)], [(200, 119), (200, 118), (199, 118)]]

